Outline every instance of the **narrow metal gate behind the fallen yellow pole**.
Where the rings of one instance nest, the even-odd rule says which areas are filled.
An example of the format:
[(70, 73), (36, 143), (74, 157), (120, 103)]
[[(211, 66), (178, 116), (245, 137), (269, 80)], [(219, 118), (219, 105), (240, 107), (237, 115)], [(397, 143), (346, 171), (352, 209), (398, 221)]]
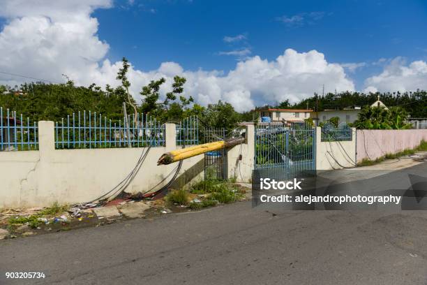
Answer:
[[(205, 129), (204, 143), (225, 140), (225, 129)], [(223, 180), (225, 149), (219, 149), (204, 154), (204, 180)]]

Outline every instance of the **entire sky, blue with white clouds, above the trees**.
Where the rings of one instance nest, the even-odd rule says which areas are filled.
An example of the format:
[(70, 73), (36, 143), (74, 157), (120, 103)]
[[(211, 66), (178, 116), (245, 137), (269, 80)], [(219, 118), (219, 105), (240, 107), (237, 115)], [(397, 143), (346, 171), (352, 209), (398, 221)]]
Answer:
[[(427, 89), (427, 1), (0, 0), (0, 84), (38, 78), (131, 92), (174, 75), (197, 103)], [(24, 78), (24, 75), (29, 78)]]

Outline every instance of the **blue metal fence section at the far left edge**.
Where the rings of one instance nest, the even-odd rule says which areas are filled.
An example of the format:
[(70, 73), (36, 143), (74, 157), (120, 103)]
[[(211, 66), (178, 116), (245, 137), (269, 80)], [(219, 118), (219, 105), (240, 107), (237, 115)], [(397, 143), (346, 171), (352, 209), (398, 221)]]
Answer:
[(38, 149), (36, 122), (0, 107), (0, 151)]

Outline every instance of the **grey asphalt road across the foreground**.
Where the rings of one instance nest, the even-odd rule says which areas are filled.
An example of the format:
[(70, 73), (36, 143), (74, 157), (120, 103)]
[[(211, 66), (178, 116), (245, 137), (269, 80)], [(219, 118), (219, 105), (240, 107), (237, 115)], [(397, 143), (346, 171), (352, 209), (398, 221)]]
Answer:
[[(427, 176), (427, 163), (410, 169)], [(375, 180), (397, 185), (407, 175)], [(242, 202), (0, 241), (0, 284), (427, 284), (426, 258), (426, 211)], [(4, 279), (15, 271), (46, 278)]]

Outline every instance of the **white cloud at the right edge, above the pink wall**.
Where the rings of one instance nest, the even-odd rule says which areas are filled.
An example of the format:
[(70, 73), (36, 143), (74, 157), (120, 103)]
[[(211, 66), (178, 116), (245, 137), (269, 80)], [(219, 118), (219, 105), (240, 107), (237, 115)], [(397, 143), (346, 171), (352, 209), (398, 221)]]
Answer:
[(405, 59), (396, 57), (391, 60), (379, 75), (365, 80), (366, 89), (377, 89), (380, 92), (414, 91), (427, 89), (427, 62), (412, 61), (409, 65)]

